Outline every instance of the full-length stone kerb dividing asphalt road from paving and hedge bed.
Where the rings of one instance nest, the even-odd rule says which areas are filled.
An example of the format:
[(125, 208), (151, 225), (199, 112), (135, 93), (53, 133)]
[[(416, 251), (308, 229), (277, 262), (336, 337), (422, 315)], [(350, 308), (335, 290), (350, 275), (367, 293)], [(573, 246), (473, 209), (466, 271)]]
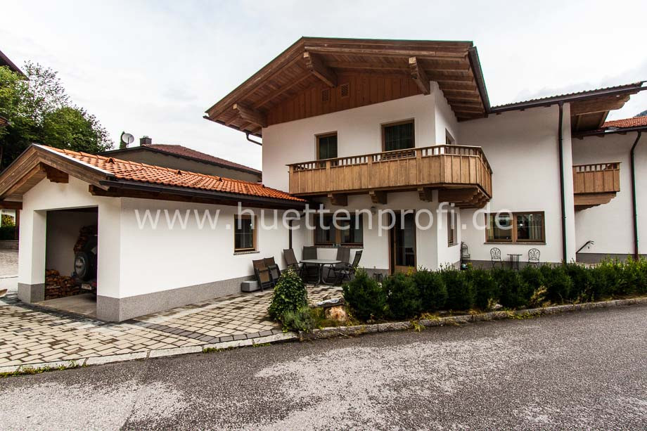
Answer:
[[(426, 328), (432, 326), (458, 325), (460, 323), (492, 321), (501, 319), (512, 319), (516, 316), (530, 317), (542, 316), (544, 314), (557, 314), (567, 311), (581, 311), (587, 309), (619, 307), (623, 305), (647, 304), (647, 297), (632, 298), (629, 300), (612, 300), (603, 302), (584, 302), (582, 304), (555, 305), (552, 307), (535, 308), (516, 311), (489, 311), (481, 314), (463, 314), (461, 316), (439, 317), (438, 319), (423, 319), (418, 324)], [(314, 340), (333, 338), (341, 336), (362, 335), (366, 333), (391, 332), (397, 330), (407, 330), (414, 328), (411, 321), (376, 323), (373, 325), (358, 326), (338, 326), (333, 328), (315, 329), (313, 333), (278, 333), (264, 337), (247, 338), (245, 340), (223, 341), (212, 344), (175, 347), (172, 349), (147, 350), (144, 352), (134, 352), (127, 354), (115, 354), (109, 356), (89, 356), (87, 358), (41, 362), (39, 364), (23, 364), (13, 366), (0, 366), (0, 373), (20, 375), (28, 374), (30, 371), (52, 371), (65, 368), (79, 368), (81, 366), (112, 364), (115, 362), (144, 360), (150, 358), (160, 358), (163, 356), (177, 356), (181, 354), (202, 353), (205, 349), (235, 349), (238, 347), (249, 347), (253, 345), (263, 345), (267, 343), (286, 342), (293, 340)]]

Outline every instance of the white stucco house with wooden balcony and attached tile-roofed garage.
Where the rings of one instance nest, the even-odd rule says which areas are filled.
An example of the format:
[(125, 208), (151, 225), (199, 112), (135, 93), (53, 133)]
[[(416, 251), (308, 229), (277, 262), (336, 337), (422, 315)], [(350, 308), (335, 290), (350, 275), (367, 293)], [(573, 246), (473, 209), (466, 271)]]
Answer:
[[(641, 254), (647, 123), (606, 117), (646, 88), (490, 106), (471, 42), (301, 38), (205, 115), (262, 139), (262, 184), (46, 146), (1, 174), (0, 199), (22, 207), (20, 298), (42, 299), (50, 244), (93, 217), (105, 320), (237, 292), (252, 259), (284, 266), (288, 247), (363, 250), (383, 274), (456, 266), (461, 244), (481, 265), (494, 248), (520, 262), (530, 249), (549, 263)], [(146, 210), (221, 214), (206, 231), (199, 217), (143, 229)]]

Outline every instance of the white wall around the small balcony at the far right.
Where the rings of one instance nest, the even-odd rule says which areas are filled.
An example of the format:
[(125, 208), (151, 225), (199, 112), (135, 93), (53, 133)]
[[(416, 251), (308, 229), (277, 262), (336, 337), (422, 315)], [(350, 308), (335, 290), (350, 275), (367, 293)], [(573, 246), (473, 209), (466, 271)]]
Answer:
[[(582, 253), (630, 255), (634, 252), (632, 186), (629, 152), (636, 133), (608, 134), (572, 140), (575, 165), (620, 162), (620, 192), (608, 204), (575, 213), (577, 248), (587, 240), (595, 245)], [(636, 203), (638, 207), (639, 252), (647, 252), (647, 134), (636, 146)]]

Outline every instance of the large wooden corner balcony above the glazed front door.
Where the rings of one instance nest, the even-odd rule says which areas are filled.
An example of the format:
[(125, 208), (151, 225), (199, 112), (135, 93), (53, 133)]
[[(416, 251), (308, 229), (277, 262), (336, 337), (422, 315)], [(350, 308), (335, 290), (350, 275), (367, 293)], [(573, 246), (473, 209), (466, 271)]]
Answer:
[(369, 193), (375, 203), (387, 203), (387, 193), (418, 191), (432, 200), (480, 208), (492, 198), (492, 168), (480, 147), (441, 145), (385, 151), (295, 163), (290, 168), (290, 193), (328, 196), (346, 205), (347, 195)]

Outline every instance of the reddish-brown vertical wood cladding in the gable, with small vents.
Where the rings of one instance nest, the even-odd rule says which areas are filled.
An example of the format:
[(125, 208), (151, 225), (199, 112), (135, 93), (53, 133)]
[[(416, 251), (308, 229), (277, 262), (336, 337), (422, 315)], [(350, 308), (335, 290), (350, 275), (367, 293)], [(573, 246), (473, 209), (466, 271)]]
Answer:
[[(267, 111), (267, 124), (300, 120), (422, 94), (411, 76), (404, 74), (341, 72), (338, 73), (338, 83), (340, 85), (331, 89), (324, 82), (317, 82), (308, 89), (299, 91), (292, 98)], [(343, 84), (348, 84), (348, 96), (342, 96), (340, 86)], [(328, 101), (324, 101), (322, 97), (325, 90), (330, 91)]]

